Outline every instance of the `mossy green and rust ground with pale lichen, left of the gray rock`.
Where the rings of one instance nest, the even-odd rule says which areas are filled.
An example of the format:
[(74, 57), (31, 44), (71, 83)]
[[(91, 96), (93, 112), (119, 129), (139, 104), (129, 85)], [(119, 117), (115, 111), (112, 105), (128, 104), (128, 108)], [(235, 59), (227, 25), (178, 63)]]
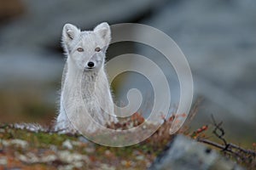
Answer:
[(78, 134), (0, 126), (0, 169), (146, 169), (172, 139), (167, 128), (161, 127), (140, 144), (108, 147), (84, 142)]

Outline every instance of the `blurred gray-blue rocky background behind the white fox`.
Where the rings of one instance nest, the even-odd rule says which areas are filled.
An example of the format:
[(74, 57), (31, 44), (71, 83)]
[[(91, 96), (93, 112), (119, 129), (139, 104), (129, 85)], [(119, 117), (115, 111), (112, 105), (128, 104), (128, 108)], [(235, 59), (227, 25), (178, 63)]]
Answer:
[[(253, 0), (0, 0), (0, 121), (49, 124), (55, 117), (65, 63), (60, 44), (65, 23), (89, 30), (102, 21), (138, 22), (166, 32), (189, 60), (195, 99), (204, 99), (193, 126), (210, 123), (212, 114), (224, 122), (230, 138), (252, 143), (255, 8)], [(138, 47), (113, 44), (108, 58), (131, 51), (158, 55)], [(172, 80), (175, 74), (169, 76)], [(140, 80), (130, 77), (119, 89)], [(173, 84), (176, 101), (177, 80)]]

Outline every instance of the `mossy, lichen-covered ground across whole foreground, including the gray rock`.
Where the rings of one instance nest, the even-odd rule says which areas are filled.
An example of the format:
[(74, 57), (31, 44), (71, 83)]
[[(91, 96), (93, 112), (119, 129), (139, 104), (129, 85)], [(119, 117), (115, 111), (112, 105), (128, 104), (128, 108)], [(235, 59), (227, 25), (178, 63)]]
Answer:
[[(143, 122), (141, 118), (131, 120), (122, 124), (121, 128), (130, 126), (131, 122), (134, 125)], [(172, 121), (173, 119), (166, 120), (151, 137), (139, 144), (127, 147), (95, 144), (79, 134), (60, 134), (48, 130), (32, 132), (10, 124), (1, 124), (0, 169), (150, 168), (155, 170), (166, 167), (178, 167), (179, 169), (189, 167), (193, 170), (238, 170), (243, 167), (255, 168), (255, 146), (254, 150), (242, 149), (247, 151), (248, 155), (241, 153), (241, 150), (232, 150), (231, 147), (219, 152), (214, 145), (196, 142), (196, 139), (209, 139), (204, 133), (207, 130), (206, 127), (201, 127), (194, 132), (189, 132), (187, 127), (184, 127), (179, 132), (180, 135), (171, 136), (169, 128)], [(120, 127), (120, 124), (117, 127)]]

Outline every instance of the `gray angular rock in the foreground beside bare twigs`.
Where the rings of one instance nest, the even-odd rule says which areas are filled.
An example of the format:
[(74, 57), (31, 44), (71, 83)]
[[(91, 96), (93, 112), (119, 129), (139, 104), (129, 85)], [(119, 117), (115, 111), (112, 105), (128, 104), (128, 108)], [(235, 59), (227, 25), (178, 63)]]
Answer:
[(168, 149), (159, 156), (149, 170), (241, 170), (233, 161), (220, 156), (215, 150), (177, 135)]

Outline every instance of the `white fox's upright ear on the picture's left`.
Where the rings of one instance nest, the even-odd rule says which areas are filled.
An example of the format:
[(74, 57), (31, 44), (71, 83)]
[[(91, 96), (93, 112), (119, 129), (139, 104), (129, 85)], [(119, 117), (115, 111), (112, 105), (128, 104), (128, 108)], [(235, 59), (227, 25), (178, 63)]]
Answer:
[(63, 42), (71, 42), (74, 38), (78, 37), (80, 30), (72, 24), (63, 26), (62, 38)]

